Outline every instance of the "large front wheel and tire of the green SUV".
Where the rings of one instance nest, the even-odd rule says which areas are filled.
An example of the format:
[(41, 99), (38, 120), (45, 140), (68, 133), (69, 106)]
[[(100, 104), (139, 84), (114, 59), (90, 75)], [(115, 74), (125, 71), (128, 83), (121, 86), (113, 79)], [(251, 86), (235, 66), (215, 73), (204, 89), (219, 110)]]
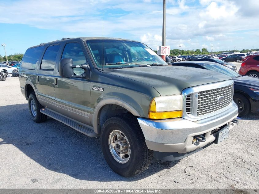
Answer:
[(123, 177), (133, 177), (147, 169), (152, 152), (134, 116), (122, 114), (105, 121), (101, 149), (110, 168)]

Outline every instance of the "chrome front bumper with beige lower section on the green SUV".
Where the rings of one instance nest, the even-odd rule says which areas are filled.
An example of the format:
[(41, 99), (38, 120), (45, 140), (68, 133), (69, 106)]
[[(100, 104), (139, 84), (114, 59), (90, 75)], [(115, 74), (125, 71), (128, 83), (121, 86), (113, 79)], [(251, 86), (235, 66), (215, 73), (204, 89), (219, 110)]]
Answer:
[[(158, 152), (187, 153), (197, 150), (215, 141), (215, 135), (211, 131), (227, 124), (230, 129), (234, 127), (231, 121), (238, 116), (238, 107), (232, 101), (232, 106), (217, 115), (190, 121), (183, 118), (166, 120), (149, 120), (138, 118), (143, 131), (147, 147)], [(206, 134), (205, 142), (192, 144), (193, 136)]]

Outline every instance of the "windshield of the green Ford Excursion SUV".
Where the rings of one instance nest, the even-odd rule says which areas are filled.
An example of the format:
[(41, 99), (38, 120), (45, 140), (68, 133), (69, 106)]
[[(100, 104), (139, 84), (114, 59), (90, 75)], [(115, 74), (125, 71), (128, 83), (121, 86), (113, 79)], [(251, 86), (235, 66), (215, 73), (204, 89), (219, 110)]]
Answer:
[[(91, 55), (99, 68), (126, 68), (168, 65), (146, 45), (129, 40), (87, 40)], [(104, 49), (103, 49), (104, 48)], [(102, 58), (104, 56), (104, 59)]]

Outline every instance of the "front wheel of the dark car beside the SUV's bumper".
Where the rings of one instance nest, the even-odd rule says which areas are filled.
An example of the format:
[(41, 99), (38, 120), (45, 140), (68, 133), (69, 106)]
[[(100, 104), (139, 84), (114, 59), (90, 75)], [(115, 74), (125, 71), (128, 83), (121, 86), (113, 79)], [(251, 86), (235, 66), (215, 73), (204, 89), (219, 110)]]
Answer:
[(246, 96), (240, 93), (234, 93), (233, 100), (238, 105), (238, 116), (245, 116), (250, 113), (251, 106)]

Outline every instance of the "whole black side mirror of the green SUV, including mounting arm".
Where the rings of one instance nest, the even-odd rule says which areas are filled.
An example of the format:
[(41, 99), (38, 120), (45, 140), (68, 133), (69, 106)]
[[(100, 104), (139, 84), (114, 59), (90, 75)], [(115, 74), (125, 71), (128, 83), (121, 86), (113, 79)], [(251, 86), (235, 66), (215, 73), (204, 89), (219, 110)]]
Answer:
[[(80, 67), (84, 70), (81, 75), (74, 75), (74, 68)], [(85, 78), (90, 79), (90, 66), (88, 63), (74, 65), (73, 59), (63, 58), (59, 61), (59, 75), (62, 78)]]

